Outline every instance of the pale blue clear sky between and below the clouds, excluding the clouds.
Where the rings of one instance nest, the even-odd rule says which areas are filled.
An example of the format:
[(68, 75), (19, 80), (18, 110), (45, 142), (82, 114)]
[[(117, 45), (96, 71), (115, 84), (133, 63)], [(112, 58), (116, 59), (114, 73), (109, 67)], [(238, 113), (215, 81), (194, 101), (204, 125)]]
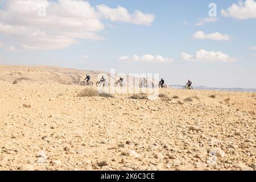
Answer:
[[(241, 5), (241, 9), (245, 9), (247, 6), (254, 8), (254, 3), (256, 7), (256, 1), (247, 1), (251, 1), (251, 3)], [(1, 1), (0, 10), (15, 14), (15, 9), (10, 10), (6, 6), (8, 2)], [(55, 2), (56, 4), (60, 3)], [(241, 16), (240, 12), (227, 10), (233, 3), (239, 6), (238, 1), (94, 0), (88, 2), (92, 7), (104, 4), (110, 9), (116, 9), (119, 5), (130, 14), (139, 10), (143, 14), (154, 15), (154, 20), (149, 20), (150, 25), (143, 21), (139, 23), (134, 23), (133, 20), (115, 21), (106, 18), (112, 12), (109, 11), (109, 14), (102, 15), (104, 18), (101, 19), (101, 23), (104, 24), (104, 28), (96, 31), (97, 36), (103, 38), (101, 40), (76, 38), (79, 43), (70, 43), (64, 48), (30, 49), (24, 47), (24, 42), (27, 43), (27, 40), (22, 40), (20, 35), (15, 32), (21, 32), (15, 27), (17, 25), (29, 28), (38, 26), (36, 22), (29, 25), (27, 22), (20, 23), (23, 19), (30, 18), (30, 14), (24, 15), (24, 17), (19, 14), (21, 19), (19, 23), (11, 19), (11, 16), (10, 18), (1, 18), (0, 24), (5, 26), (11, 24), (14, 26), (14, 30), (12, 29), (14, 32), (4, 31), (6, 30), (4, 27), (1, 31), (0, 26), (0, 64), (57, 65), (107, 72), (115, 68), (117, 72), (121, 73), (159, 73), (160, 77), (163, 77), (171, 85), (185, 84), (190, 79), (194, 85), (256, 88), (256, 49), (253, 48), (256, 46), (256, 11), (255, 14), (247, 13)], [(217, 20), (205, 22), (203, 26), (196, 26), (195, 24), (200, 22), (200, 19), (210, 18), (208, 5), (212, 2), (217, 5)], [(10, 3), (10, 6), (14, 5)], [(221, 13), (222, 9), (229, 14)], [(53, 14), (53, 10), (50, 13)], [(135, 17), (135, 19), (137, 18)], [(42, 30), (44, 27), (39, 28)], [(55, 29), (54, 31), (58, 33), (62, 30)], [(208, 38), (192, 39), (192, 36), (198, 31), (209, 34)], [(229, 40), (214, 40), (215, 36), (214, 38), (210, 36), (214, 32), (228, 35)], [(28, 33), (24, 32), (24, 34)], [(56, 39), (55, 36), (50, 36), (49, 39), (51, 38)], [(70, 39), (68, 38), (68, 40)], [(35, 41), (31, 40), (30, 45), (32, 43)], [(36, 42), (35, 44), (38, 46), (46, 44), (46, 42)], [(200, 53), (199, 55), (196, 53), (201, 49), (207, 51), (208, 57), (209, 52), (213, 52), (210, 55), (221, 52), (224, 57), (227, 55), (229, 57), (225, 60), (215, 60), (216, 56), (213, 55), (213, 58), (205, 59), (205, 57), (200, 57)], [(190, 55), (191, 58), (183, 59), (182, 53)], [(141, 58), (133, 60), (134, 55)], [(170, 61), (171, 63), (163, 63), (158, 60), (145, 61), (143, 55), (161, 55), (173, 61)], [(122, 56), (129, 58), (123, 61), (119, 59)]]

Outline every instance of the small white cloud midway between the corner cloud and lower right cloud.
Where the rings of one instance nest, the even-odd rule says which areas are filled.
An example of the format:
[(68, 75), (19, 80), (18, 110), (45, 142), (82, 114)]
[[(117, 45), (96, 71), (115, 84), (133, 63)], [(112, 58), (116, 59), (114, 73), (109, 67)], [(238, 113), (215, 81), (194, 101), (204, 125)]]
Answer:
[(197, 31), (192, 35), (193, 39), (209, 39), (209, 40), (230, 40), (229, 35), (223, 35), (219, 32), (214, 32), (212, 34), (205, 34), (203, 31)]

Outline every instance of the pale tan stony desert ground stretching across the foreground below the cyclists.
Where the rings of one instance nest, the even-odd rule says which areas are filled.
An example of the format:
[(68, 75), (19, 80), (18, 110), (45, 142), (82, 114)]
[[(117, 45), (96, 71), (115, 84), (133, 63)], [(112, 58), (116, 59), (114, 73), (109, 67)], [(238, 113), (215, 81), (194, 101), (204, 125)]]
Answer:
[(0, 169), (255, 170), (256, 94), (77, 97), (84, 88), (0, 81)]

